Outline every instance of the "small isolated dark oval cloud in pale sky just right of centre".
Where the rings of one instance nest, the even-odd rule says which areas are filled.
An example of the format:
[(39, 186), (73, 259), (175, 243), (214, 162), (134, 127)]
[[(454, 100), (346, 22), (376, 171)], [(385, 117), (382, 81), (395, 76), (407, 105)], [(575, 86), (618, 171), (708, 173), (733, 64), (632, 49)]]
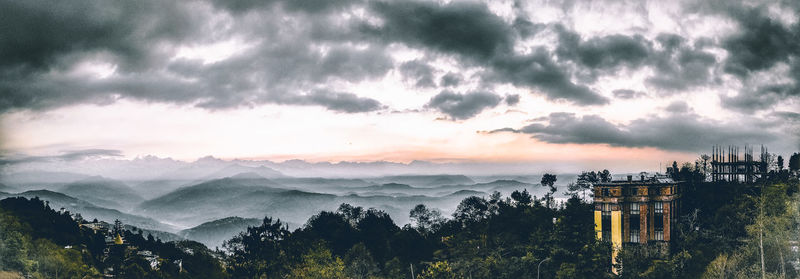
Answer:
[(472, 118), (483, 110), (496, 107), (502, 98), (489, 92), (469, 92), (466, 94), (442, 91), (428, 101), (426, 107), (447, 114), (454, 120)]

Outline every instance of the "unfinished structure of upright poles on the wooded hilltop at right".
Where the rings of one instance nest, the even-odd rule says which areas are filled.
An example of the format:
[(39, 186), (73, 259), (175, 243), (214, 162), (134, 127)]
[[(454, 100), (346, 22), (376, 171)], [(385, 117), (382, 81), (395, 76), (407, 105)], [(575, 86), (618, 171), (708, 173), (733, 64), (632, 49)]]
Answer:
[(744, 146), (744, 158), (739, 157), (738, 146), (712, 147), (711, 180), (753, 183), (767, 172), (767, 148), (761, 146), (759, 160), (753, 157), (753, 147)]

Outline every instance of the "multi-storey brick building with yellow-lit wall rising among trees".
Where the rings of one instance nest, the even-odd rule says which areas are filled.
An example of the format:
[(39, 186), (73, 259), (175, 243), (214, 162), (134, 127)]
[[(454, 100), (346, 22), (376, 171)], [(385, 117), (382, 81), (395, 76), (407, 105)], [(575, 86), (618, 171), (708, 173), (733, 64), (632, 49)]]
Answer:
[(681, 183), (664, 175), (594, 185), (597, 238), (611, 242), (612, 263), (623, 245), (672, 239), (680, 212)]

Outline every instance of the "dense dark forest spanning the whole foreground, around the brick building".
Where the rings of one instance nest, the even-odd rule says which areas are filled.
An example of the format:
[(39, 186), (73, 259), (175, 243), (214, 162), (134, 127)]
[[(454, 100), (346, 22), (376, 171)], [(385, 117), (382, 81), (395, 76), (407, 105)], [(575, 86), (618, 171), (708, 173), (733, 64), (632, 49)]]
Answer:
[[(677, 165), (676, 165), (677, 166)], [(790, 167), (796, 169), (796, 165)], [(211, 251), (192, 241), (161, 242), (113, 230), (126, 245), (80, 226), (39, 199), (0, 201), (0, 277), (95, 278), (767, 278), (797, 277), (800, 195), (796, 170), (782, 161), (754, 184), (705, 182), (705, 168), (684, 164), (683, 212), (668, 251), (624, 246), (618, 274), (611, 244), (595, 236), (586, 188), (557, 202), (555, 175), (544, 197), (469, 197), (445, 217), (418, 205), (399, 227), (385, 212), (342, 204), (290, 231), (263, 222)], [(605, 179), (610, 174), (600, 172)], [(586, 173), (582, 177), (587, 177)], [(596, 175), (596, 173), (595, 173)], [(85, 222), (85, 221), (84, 221)], [(148, 262), (137, 251), (151, 251)]]

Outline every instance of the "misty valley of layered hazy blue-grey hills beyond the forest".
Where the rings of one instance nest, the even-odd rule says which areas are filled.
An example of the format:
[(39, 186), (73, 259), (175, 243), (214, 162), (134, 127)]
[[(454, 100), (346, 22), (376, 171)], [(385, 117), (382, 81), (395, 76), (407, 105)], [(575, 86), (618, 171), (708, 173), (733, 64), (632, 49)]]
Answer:
[[(540, 176), (409, 175), (401, 173), (418, 170), (394, 163), (388, 164), (395, 169), (360, 166), (363, 176), (358, 175), (358, 167), (346, 163), (320, 167), (304, 162), (308, 167), (302, 172), (292, 165), (298, 162), (273, 163), (276, 169), (304, 175), (289, 176), (263, 162), (150, 160), (113, 160), (112, 167), (81, 166), (79, 170), (94, 173), (72, 172), (70, 168), (76, 166), (61, 166), (71, 170), (63, 172), (8, 173), (0, 177), (0, 199), (39, 197), (51, 208), (80, 214), (86, 220), (120, 220), (164, 241), (188, 239), (213, 249), (221, 248), (223, 241), (248, 226), (260, 224), (264, 217), (280, 219), (296, 229), (309, 217), (336, 210), (343, 203), (384, 211), (402, 226), (410, 222), (409, 212), (418, 204), (449, 216), (470, 196), (488, 197), (494, 192), (509, 196), (526, 189), (541, 197), (547, 192), (547, 187), (537, 182)], [(165, 162), (170, 166), (165, 167)], [(331, 175), (337, 168), (346, 174), (344, 178)], [(124, 169), (135, 169), (141, 175)], [(569, 178), (563, 176), (562, 180)], [(556, 197), (566, 196), (558, 193)]]

